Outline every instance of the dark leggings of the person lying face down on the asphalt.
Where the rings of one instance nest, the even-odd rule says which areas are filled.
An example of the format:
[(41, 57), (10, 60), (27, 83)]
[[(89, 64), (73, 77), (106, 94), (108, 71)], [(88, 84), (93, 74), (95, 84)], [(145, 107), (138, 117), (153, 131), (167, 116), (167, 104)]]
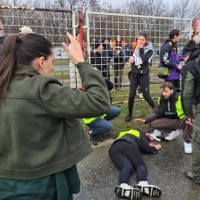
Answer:
[(115, 142), (109, 152), (110, 159), (120, 170), (119, 184), (129, 184), (133, 171), (136, 171), (136, 180), (147, 181), (147, 167), (144, 163), (140, 150), (133, 144), (120, 140)]

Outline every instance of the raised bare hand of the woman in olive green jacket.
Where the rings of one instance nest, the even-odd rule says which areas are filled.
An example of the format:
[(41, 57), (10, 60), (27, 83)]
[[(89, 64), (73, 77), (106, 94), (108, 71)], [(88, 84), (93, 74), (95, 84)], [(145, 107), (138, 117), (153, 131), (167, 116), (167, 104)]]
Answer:
[(67, 52), (67, 55), (69, 56), (72, 63), (74, 65), (77, 65), (79, 62), (84, 62), (83, 51), (81, 49), (79, 42), (68, 32), (67, 32), (67, 37), (71, 42), (72, 48), (69, 49), (69, 46), (65, 42), (62, 43), (62, 46), (64, 50)]

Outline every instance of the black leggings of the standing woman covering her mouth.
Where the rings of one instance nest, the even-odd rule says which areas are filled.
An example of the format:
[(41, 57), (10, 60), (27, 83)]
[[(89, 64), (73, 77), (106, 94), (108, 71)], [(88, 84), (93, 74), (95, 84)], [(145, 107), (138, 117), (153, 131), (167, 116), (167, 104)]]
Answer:
[(139, 85), (141, 86), (141, 91), (143, 93), (144, 99), (152, 108), (154, 108), (155, 104), (150, 96), (149, 84), (150, 84), (149, 74), (146, 74), (140, 77), (133, 77), (133, 76), (130, 77), (130, 92), (129, 92), (129, 100), (128, 100), (129, 115), (132, 115), (134, 99), (135, 99), (136, 91)]

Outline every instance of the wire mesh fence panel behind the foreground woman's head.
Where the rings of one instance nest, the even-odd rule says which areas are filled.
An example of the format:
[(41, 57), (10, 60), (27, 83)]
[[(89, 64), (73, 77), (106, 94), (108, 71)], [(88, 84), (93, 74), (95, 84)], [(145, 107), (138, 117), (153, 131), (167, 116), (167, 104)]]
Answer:
[(69, 59), (61, 43), (66, 41), (67, 31), (72, 33), (72, 11), (0, 6), (0, 15), (5, 24), (6, 34), (19, 34), (21, 27), (28, 26), (51, 41), (56, 56), (53, 75), (63, 83), (69, 84)]

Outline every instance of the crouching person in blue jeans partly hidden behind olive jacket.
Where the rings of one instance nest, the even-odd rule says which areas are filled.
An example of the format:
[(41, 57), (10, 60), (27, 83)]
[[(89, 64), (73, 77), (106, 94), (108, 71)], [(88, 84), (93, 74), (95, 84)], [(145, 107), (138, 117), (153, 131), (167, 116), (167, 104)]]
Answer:
[(113, 129), (110, 120), (118, 117), (120, 112), (121, 109), (119, 107), (111, 107), (107, 114), (104, 114), (101, 117), (83, 118), (83, 123), (90, 128), (88, 136), (93, 145), (98, 144), (100, 135), (110, 133)]

